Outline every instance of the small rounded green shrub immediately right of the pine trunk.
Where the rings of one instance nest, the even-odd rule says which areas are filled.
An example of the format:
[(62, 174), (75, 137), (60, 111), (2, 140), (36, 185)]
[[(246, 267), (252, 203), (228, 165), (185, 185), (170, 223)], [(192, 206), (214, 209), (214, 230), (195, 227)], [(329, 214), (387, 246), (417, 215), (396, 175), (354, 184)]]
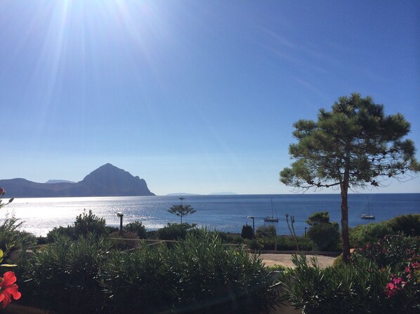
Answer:
[(376, 224), (361, 224), (350, 229), (350, 245), (353, 247), (363, 247), (367, 243), (375, 243), (385, 235), (391, 234), (393, 234), (393, 230), (391, 226), (388, 226), (386, 221)]

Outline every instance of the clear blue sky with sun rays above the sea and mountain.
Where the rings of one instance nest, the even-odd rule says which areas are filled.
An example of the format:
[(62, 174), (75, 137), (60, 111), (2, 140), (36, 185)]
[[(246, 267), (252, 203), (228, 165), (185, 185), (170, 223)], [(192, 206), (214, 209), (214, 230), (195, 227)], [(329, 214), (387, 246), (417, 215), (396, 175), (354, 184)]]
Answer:
[(419, 147), (419, 16), (416, 0), (1, 0), (0, 178), (112, 163), (158, 195), (289, 193), (292, 123), (353, 92)]

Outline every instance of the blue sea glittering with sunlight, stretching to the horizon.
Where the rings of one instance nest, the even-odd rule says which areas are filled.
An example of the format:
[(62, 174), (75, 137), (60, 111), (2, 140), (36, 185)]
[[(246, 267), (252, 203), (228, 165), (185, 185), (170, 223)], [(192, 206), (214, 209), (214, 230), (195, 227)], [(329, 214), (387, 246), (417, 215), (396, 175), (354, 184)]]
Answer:
[[(339, 194), (275, 194), (275, 195), (212, 195), (212, 196), (131, 196), (84, 198), (17, 198), (3, 207), (0, 224), (12, 215), (22, 222), (22, 230), (45, 236), (56, 226), (74, 223), (77, 215), (88, 210), (103, 217), (107, 225), (119, 226), (141, 221), (147, 230), (157, 230), (180, 218), (168, 212), (172, 205), (191, 205), (197, 212), (183, 217), (183, 222), (197, 224), (213, 231), (240, 233), (248, 224), (255, 228), (264, 224), (275, 226), (278, 235), (289, 234), (286, 215), (294, 217), (296, 234), (303, 235), (309, 227), (308, 217), (314, 212), (329, 212), (330, 221), (341, 221)], [(272, 205), (273, 204), (273, 205)], [(273, 207), (272, 207), (273, 206)], [(360, 193), (348, 195), (348, 224), (372, 224), (401, 214), (420, 214), (420, 193)], [(265, 222), (272, 212), (278, 222)], [(361, 214), (374, 214), (375, 220), (361, 219)], [(251, 217), (254, 217), (252, 219)]]

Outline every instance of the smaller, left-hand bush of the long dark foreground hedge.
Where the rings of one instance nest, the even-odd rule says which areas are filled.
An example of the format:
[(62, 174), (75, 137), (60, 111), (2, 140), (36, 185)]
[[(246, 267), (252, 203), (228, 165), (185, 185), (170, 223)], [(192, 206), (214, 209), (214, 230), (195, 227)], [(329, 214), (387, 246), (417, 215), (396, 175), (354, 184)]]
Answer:
[(98, 282), (109, 240), (93, 235), (77, 242), (58, 236), (54, 245), (18, 262), (22, 301), (55, 313), (99, 313), (103, 292)]

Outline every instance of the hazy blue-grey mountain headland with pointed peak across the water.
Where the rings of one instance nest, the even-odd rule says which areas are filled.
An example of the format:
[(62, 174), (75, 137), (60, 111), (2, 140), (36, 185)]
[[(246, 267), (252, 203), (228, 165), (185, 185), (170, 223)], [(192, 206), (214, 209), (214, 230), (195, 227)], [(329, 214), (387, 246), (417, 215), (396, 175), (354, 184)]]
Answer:
[(0, 180), (8, 198), (66, 196), (154, 196), (144, 179), (110, 163), (86, 175), (80, 182), (37, 183), (26, 179)]

